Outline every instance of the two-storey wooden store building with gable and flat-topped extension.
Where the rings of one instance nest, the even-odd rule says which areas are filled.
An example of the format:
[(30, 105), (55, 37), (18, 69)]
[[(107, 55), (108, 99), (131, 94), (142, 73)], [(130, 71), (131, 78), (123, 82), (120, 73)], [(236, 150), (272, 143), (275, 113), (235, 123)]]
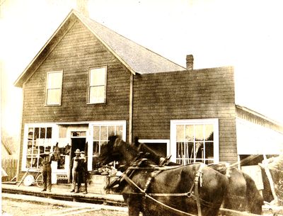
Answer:
[(54, 173), (69, 174), (78, 148), (92, 171), (112, 134), (139, 137), (183, 164), (237, 161), (246, 110), (235, 105), (233, 67), (192, 65), (192, 55), (181, 67), (72, 10), (15, 82), (23, 88), (21, 175), (57, 143)]

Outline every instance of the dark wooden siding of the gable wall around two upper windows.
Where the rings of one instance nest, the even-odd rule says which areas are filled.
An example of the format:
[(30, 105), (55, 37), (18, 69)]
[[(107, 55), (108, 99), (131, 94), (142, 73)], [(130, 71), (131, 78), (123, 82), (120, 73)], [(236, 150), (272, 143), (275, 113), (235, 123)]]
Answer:
[[(105, 104), (87, 104), (88, 68), (108, 67)], [(45, 106), (47, 72), (63, 70), (62, 105)], [(129, 76), (121, 62), (80, 22), (76, 22), (25, 83), (23, 124), (128, 120)]]

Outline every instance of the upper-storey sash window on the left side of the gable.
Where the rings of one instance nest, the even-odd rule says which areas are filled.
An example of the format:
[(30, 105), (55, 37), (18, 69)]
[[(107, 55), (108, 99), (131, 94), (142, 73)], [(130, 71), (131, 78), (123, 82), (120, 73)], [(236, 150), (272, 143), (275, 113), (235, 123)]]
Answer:
[(47, 72), (46, 105), (61, 105), (63, 72)]

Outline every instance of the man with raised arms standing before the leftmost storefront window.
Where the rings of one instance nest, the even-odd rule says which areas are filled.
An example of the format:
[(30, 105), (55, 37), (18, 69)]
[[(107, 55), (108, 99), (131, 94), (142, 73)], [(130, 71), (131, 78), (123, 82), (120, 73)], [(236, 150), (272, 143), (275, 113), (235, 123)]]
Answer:
[(51, 192), (51, 162), (54, 161), (54, 155), (53, 152), (50, 153), (50, 149), (45, 149), (45, 153), (40, 154), (40, 157), (42, 157), (42, 176), (43, 176), (43, 190), (46, 191), (48, 189), (48, 192)]

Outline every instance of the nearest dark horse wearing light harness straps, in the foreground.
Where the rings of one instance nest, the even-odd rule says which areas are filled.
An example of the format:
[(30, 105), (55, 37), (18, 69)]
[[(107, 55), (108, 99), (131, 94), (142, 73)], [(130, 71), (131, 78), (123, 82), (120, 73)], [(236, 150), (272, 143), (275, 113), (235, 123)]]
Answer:
[(160, 169), (146, 159), (137, 163), (138, 157), (134, 145), (115, 136), (102, 144), (99, 156), (102, 164), (117, 160), (127, 165), (120, 187), (129, 216), (218, 214), (228, 183), (224, 175), (202, 164)]

